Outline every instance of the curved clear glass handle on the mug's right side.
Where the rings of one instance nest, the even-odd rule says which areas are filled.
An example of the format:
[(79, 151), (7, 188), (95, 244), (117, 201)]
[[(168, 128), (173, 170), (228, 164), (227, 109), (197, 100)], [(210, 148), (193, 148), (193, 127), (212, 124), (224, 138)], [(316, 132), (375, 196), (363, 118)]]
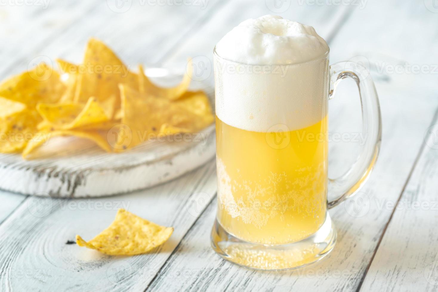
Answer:
[(329, 178), (329, 209), (351, 197), (364, 184), (376, 162), (381, 142), (381, 116), (379, 100), (368, 70), (355, 62), (339, 62), (330, 66), (329, 99), (335, 94), (336, 86), (346, 78), (353, 79), (359, 88), (362, 107), (362, 132), (365, 143), (352, 167), (345, 174)]

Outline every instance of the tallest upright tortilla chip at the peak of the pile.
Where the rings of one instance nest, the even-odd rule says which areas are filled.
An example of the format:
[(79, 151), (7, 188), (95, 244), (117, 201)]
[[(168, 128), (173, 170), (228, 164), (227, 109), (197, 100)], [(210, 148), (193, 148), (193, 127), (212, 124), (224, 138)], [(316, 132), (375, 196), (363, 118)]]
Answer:
[(120, 108), (119, 83), (138, 87), (138, 76), (102, 42), (92, 38), (88, 42), (83, 61), (85, 72), (79, 72), (74, 101), (82, 102), (90, 96), (104, 102), (114, 94), (114, 110)]

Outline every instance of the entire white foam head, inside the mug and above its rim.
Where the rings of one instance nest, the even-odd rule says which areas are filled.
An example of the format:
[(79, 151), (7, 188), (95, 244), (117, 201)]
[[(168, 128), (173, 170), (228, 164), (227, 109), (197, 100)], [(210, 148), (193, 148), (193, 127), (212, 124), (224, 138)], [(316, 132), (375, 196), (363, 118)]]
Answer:
[(325, 117), (329, 47), (312, 27), (271, 15), (249, 19), (215, 52), (215, 110), (222, 122), (277, 132)]

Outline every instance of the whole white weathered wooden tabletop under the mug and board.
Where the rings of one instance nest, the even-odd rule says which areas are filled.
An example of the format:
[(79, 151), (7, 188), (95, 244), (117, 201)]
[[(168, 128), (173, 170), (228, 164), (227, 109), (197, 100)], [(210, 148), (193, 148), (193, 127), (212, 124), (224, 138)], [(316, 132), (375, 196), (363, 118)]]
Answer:
[[(91, 36), (132, 66), (179, 68), (187, 56), (211, 58), (215, 43), (249, 17), (276, 13), (313, 25), (329, 42), (331, 63), (356, 56), (369, 64), (383, 140), (365, 187), (330, 211), (335, 249), (290, 272), (239, 268), (210, 248), (214, 161), (155, 188), (108, 198), (0, 192), (0, 291), (438, 291), (438, 7), (432, 0), (10, 2), (0, 6), (2, 79), (35, 56), (78, 63)], [(205, 68), (211, 79), (211, 66)], [(348, 81), (340, 87), (330, 101), (330, 132), (346, 135), (333, 136), (332, 176), (348, 167), (360, 145), (357, 90)], [(76, 234), (92, 238), (121, 207), (175, 232), (155, 253), (134, 257), (66, 244)]]

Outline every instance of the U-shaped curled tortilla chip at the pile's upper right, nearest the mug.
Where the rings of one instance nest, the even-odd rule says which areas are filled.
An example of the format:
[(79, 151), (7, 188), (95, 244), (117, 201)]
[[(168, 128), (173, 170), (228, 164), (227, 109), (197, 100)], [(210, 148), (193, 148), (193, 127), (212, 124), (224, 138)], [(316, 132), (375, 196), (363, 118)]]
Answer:
[(145, 75), (145, 70), (143, 66), (138, 66), (138, 87), (140, 93), (151, 94), (155, 97), (164, 97), (169, 100), (177, 100), (180, 98), (184, 92), (189, 88), (192, 74), (192, 64), (191, 59), (187, 62), (187, 70), (184, 74), (183, 80), (176, 87), (163, 88), (152, 83), (148, 77)]

